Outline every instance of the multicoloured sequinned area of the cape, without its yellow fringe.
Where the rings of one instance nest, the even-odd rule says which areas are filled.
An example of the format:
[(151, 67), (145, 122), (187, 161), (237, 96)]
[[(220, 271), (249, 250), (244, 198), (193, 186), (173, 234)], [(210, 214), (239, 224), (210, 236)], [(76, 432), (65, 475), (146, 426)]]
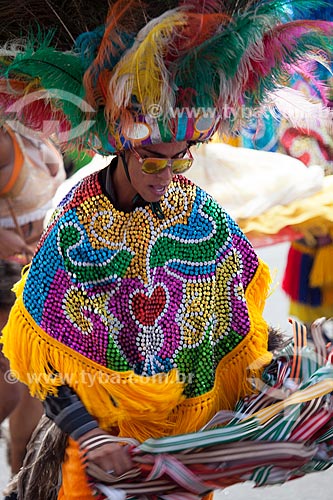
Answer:
[(51, 337), (116, 371), (177, 367), (187, 396), (214, 384), (250, 328), (245, 290), (258, 259), (203, 190), (175, 177), (158, 219), (115, 210), (97, 174), (58, 207), (29, 272), (24, 303)]

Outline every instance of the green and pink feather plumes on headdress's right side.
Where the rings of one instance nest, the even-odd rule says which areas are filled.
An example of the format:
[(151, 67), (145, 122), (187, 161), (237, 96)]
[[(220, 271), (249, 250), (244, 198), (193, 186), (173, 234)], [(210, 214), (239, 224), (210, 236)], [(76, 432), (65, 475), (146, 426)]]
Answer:
[[(185, 55), (175, 72), (177, 86), (194, 88), (195, 107), (255, 110), (265, 93), (287, 83), (288, 65), (317, 47), (332, 49), (332, 24), (299, 21), (282, 24), (283, 2), (262, 2), (234, 16), (220, 33)], [(278, 15), (279, 14), (279, 15)]]

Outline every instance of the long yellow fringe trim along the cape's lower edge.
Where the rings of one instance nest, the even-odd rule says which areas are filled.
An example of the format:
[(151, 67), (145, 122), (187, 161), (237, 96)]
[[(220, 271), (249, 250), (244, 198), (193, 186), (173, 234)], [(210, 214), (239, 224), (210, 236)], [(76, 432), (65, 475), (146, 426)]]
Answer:
[(213, 389), (187, 400), (177, 370), (153, 377), (116, 372), (52, 339), (24, 307), (25, 280), (26, 276), (16, 285), (17, 300), (2, 337), (14, 375), (42, 400), (47, 394), (56, 394), (66, 382), (100, 426), (110, 432), (119, 430), (120, 435), (143, 441), (151, 436), (198, 430), (217, 411), (232, 409), (240, 397), (254, 392), (253, 379), (259, 378), (271, 361), (268, 327), (262, 317), (270, 274), (262, 261), (245, 293), (250, 332), (219, 363)]

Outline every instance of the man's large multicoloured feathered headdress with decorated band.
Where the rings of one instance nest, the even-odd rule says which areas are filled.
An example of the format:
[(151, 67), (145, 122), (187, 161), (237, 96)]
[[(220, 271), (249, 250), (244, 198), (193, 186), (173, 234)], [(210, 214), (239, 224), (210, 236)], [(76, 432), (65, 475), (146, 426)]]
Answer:
[(78, 32), (45, 2), (60, 30), (0, 52), (1, 117), (107, 154), (237, 130), (283, 101), (300, 61), (332, 50), (333, 23), (304, 19), (318, 3), (118, 0), (95, 29), (81, 13)]

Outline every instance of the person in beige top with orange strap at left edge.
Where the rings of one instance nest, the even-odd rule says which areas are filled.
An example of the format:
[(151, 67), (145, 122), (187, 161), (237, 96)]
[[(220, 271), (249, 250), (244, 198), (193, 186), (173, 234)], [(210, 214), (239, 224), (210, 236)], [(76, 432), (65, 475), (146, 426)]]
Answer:
[[(33, 256), (52, 197), (65, 179), (62, 155), (50, 141), (0, 128), (0, 329), (14, 303), (13, 285)], [(0, 353), (0, 423), (9, 417), (12, 473), (23, 463), (26, 445), (42, 415), (40, 401), (10, 375)]]

